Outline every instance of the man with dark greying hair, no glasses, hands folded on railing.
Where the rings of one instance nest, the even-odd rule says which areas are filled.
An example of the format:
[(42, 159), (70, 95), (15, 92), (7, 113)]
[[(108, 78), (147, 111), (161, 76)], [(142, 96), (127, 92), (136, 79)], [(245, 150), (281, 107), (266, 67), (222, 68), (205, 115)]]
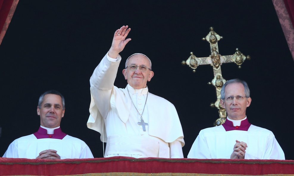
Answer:
[(29, 159), (93, 158), (87, 144), (61, 131), (65, 112), (64, 97), (58, 91), (47, 91), (39, 98), (37, 114), (40, 128), (34, 134), (15, 139), (3, 157)]

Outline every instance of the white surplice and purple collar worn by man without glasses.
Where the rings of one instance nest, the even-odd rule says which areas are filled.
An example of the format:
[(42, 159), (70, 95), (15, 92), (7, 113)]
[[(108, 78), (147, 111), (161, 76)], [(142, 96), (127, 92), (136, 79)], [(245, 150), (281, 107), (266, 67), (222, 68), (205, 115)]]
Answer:
[[(54, 132), (48, 134), (47, 130)], [(42, 126), (34, 134), (15, 139), (3, 157), (35, 159), (41, 151), (48, 149), (56, 150), (60, 159), (93, 158), (90, 148), (81, 139), (63, 133), (59, 127), (49, 129)]]

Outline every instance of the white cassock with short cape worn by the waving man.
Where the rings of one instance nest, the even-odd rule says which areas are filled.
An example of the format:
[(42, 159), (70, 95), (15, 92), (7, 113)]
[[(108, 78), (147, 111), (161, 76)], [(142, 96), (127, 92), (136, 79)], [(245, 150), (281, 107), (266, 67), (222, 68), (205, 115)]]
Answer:
[[(87, 126), (98, 131), (101, 141), (107, 142), (104, 156), (183, 158), (184, 135), (175, 107), (166, 99), (148, 93), (147, 87), (114, 86), (120, 61), (121, 56), (114, 59), (107, 53), (90, 78)], [(148, 123), (146, 131), (138, 125), (141, 116), (130, 96), (140, 114), (143, 112), (143, 120)]]

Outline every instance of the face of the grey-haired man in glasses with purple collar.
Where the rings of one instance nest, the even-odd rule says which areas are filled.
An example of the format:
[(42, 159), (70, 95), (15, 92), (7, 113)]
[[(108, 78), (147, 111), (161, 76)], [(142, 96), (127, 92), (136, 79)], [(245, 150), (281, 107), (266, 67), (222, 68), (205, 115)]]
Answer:
[(225, 99), (220, 100), (221, 105), (226, 109), (227, 115), (232, 120), (241, 120), (246, 116), (246, 108), (250, 106), (251, 98), (244, 97), (243, 100), (237, 100), (236, 97), (233, 101), (226, 100), (229, 96), (245, 96), (245, 89), (241, 83), (231, 83), (226, 86)]

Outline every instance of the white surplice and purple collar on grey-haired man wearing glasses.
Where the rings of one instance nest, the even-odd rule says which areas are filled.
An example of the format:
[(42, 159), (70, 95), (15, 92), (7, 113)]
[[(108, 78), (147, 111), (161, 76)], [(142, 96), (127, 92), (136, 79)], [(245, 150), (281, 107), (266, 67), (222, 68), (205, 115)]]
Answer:
[(236, 140), (247, 144), (245, 159), (285, 159), (284, 152), (270, 130), (251, 125), (247, 117), (203, 129), (192, 145), (188, 158), (230, 159)]

